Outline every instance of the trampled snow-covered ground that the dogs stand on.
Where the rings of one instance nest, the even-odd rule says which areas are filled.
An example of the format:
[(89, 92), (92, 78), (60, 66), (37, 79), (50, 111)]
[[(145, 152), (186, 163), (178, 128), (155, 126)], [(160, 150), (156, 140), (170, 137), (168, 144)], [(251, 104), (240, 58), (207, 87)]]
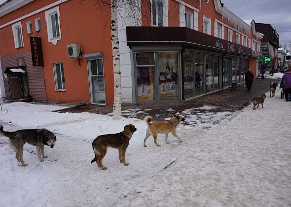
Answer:
[[(159, 135), (161, 147), (152, 138), (143, 146), (146, 123), (138, 119), (3, 104), (4, 130), (47, 128), (57, 142), (44, 148), (48, 158), (41, 163), (36, 148), (26, 144), (28, 166), (22, 167), (8, 138), (0, 137), (0, 206), (290, 206), (291, 102), (278, 92), (267, 96), (263, 109), (251, 104), (208, 129), (180, 124), (183, 142), (170, 135), (166, 144)], [(138, 129), (126, 151), (130, 165), (111, 148), (103, 161), (108, 170), (91, 165), (94, 138), (126, 124)]]

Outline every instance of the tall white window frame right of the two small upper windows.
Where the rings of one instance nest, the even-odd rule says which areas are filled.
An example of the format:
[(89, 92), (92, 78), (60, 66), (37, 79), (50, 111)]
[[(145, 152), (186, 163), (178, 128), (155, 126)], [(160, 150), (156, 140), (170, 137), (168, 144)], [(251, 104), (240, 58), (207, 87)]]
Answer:
[[(59, 7), (52, 8), (46, 12), (45, 14), (45, 21), (46, 21), (46, 28), (47, 28), (47, 36), (48, 36), (48, 42), (52, 42), (54, 45), (57, 44), (58, 40), (62, 39), (61, 35), (61, 22), (60, 22), (60, 9)], [(57, 14), (57, 20), (58, 20), (58, 29), (59, 36), (54, 37), (53, 36), (53, 28), (52, 28), (52, 21), (51, 21), (51, 16)]]

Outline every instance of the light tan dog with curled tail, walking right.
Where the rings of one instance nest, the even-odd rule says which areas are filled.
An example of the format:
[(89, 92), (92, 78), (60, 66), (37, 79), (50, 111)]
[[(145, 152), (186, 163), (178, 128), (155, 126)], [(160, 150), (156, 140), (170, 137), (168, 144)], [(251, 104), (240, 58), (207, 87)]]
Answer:
[(182, 118), (182, 116), (174, 115), (174, 118), (169, 120), (169, 121), (159, 121), (159, 122), (153, 122), (153, 123), (150, 123), (152, 121), (152, 117), (146, 116), (145, 121), (146, 121), (146, 124), (148, 127), (146, 128), (146, 138), (144, 140), (144, 147), (146, 147), (146, 139), (149, 138), (150, 136), (153, 137), (153, 142), (157, 146), (161, 146), (157, 142), (158, 133), (166, 134), (165, 136), (166, 136), (166, 143), (167, 144), (169, 143), (168, 142), (168, 135), (170, 132), (172, 133), (172, 135), (175, 138), (178, 138), (178, 140), (182, 142), (182, 140), (176, 134), (176, 129), (177, 129), (178, 124), (181, 121), (185, 121), (185, 119)]

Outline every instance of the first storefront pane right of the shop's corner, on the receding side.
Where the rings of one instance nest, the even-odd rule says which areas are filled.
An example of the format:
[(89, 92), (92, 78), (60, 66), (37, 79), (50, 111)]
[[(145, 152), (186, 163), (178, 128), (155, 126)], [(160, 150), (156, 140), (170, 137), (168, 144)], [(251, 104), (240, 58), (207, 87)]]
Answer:
[(184, 62), (184, 98), (188, 99), (194, 96), (194, 54), (185, 52), (183, 54)]

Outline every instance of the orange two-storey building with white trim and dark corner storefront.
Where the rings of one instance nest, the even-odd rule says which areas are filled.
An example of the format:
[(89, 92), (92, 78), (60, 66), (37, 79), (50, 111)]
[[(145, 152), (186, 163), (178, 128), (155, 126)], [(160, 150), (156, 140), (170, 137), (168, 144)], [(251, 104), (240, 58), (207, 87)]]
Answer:
[[(4, 97), (113, 104), (110, 7), (77, 2), (0, 5)], [(262, 34), (220, 0), (133, 2), (118, 17), (123, 102), (191, 99), (257, 72)]]

